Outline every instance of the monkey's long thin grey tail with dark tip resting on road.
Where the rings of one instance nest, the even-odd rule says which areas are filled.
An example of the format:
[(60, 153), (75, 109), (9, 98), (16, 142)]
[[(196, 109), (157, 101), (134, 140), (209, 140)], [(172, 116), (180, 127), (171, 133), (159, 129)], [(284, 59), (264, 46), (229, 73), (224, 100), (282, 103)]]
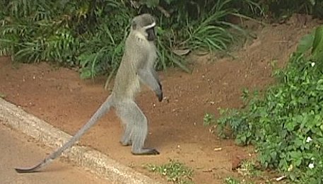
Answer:
[(107, 113), (107, 110), (110, 110), (111, 106), (112, 106), (112, 96), (109, 96), (107, 98), (107, 100), (105, 100), (105, 102), (102, 103), (100, 108), (94, 113), (94, 115), (92, 115), (90, 120), (88, 120), (88, 122), (86, 122), (86, 125), (81, 127), (81, 129), (78, 130), (78, 132), (76, 132), (74, 137), (72, 137), (69, 140), (69, 142), (66, 142), (63, 146), (61, 146), (59, 149), (57, 149), (57, 151), (54, 151), (52, 154), (47, 156), (46, 159), (42, 160), (36, 166), (30, 167), (30, 168), (15, 168), (16, 172), (17, 173), (33, 173), (34, 171), (37, 171), (38, 169), (42, 168), (43, 166), (47, 165), (48, 163), (50, 163), (51, 161), (53, 161), (54, 159), (59, 157), (61, 155), (61, 153), (63, 151), (65, 151), (65, 149), (68, 149), (69, 147), (73, 146), (73, 144), (75, 142), (77, 142), (78, 139), (80, 139), (82, 137), (82, 135), (85, 134), (90, 129), (90, 127), (95, 125), (98, 122), (98, 120), (100, 119), (100, 117), (105, 115), (105, 113)]

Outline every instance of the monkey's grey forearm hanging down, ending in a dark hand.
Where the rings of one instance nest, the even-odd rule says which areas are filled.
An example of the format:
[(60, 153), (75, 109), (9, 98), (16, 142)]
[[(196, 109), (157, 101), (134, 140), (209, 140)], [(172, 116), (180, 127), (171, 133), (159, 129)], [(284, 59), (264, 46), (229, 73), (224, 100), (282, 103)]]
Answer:
[(138, 75), (139, 79), (143, 84), (146, 84), (151, 90), (153, 90), (161, 102), (163, 100), (163, 88), (158, 79), (157, 73), (155, 71), (149, 71), (147, 69), (139, 69)]

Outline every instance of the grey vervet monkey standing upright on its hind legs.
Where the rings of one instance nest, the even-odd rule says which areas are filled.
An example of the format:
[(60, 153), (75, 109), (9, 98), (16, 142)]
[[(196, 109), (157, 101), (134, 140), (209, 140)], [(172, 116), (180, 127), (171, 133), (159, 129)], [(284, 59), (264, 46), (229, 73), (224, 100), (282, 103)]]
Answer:
[(134, 102), (141, 83), (150, 87), (159, 101), (163, 100), (162, 86), (154, 69), (155, 59), (157, 58), (154, 40), (155, 18), (150, 14), (134, 17), (131, 21), (131, 30), (124, 46), (124, 55), (115, 77), (111, 95), (69, 142), (66, 142), (36, 166), (15, 168), (16, 171), (18, 173), (31, 173), (56, 159), (65, 149), (78, 141), (90, 127), (95, 125), (99, 118), (105, 115), (111, 107), (115, 108), (124, 125), (124, 135), (120, 141), (122, 145), (131, 145), (131, 152), (134, 155), (159, 154), (156, 149), (143, 147), (148, 133), (148, 122), (146, 116)]

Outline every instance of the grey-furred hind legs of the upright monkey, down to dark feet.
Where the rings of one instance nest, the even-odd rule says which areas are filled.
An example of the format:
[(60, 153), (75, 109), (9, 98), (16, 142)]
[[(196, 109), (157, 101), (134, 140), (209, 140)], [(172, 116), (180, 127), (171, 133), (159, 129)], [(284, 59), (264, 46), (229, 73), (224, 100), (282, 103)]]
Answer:
[(134, 101), (122, 102), (122, 105), (117, 107), (117, 114), (126, 124), (122, 144), (130, 141), (132, 143), (132, 154), (159, 154), (156, 149), (143, 148), (148, 133), (148, 122), (146, 116), (143, 115)]

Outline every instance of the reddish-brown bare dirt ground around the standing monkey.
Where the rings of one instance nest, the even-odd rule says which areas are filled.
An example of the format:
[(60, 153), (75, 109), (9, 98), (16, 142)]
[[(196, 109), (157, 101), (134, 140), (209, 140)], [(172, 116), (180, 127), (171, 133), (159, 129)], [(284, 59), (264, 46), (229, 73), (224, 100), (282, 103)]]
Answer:
[[(130, 147), (121, 146), (122, 127), (113, 110), (81, 144), (158, 180), (163, 178), (146, 171), (144, 164), (177, 159), (194, 168), (195, 183), (223, 183), (224, 178), (237, 176), (232, 164), (252, 156), (252, 149), (211, 134), (203, 125), (204, 114), (218, 116), (218, 108), (240, 108), (242, 88), (261, 90), (272, 83), (271, 63), (276, 60), (283, 66), (298, 40), (315, 25), (317, 21), (304, 16), (294, 16), (281, 25), (253, 23), (248, 28), (257, 38), (233, 52), (235, 59), (191, 56), (192, 74), (179, 69), (160, 72), (165, 100), (158, 103), (147, 88), (137, 98), (150, 123), (146, 146), (158, 149), (159, 156), (133, 156)], [(104, 77), (82, 81), (72, 69), (54, 69), (46, 63), (13, 64), (8, 57), (0, 58), (0, 93), (4, 98), (69, 134), (74, 134), (109, 95), (104, 84)], [(222, 150), (214, 151), (218, 147)]]

